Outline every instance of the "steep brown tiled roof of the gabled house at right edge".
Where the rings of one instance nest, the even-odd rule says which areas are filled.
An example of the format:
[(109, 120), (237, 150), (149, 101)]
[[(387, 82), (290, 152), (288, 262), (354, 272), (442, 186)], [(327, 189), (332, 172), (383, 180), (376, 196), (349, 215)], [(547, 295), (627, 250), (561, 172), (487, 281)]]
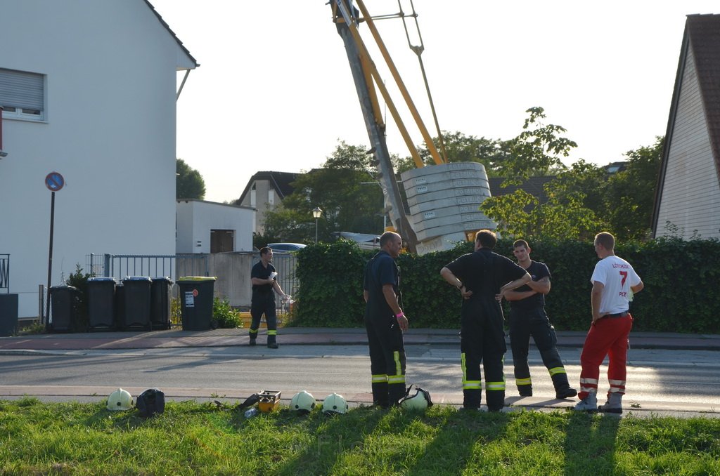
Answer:
[(683, 43), (680, 48), (678, 73), (675, 75), (675, 88), (672, 91), (672, 101), (670, 102), (670, 116), (667, 119), (660, 174), (655, 188), (655, 203), (652, 214), (653, 234), (657, 232), (657, 219), (660, 212), (662, 188), (665, 185), (667, 159), (672, 144), (672, 132), (675, 129), (675, 117), (678, 114), (680, 87), (683, 83), (685, 63), (688, 60), (690, 51), (693, 52), (698, 88), (714, 156), (715, 172), (720, 181), (720, 15), (688, 15), (685, 21)]

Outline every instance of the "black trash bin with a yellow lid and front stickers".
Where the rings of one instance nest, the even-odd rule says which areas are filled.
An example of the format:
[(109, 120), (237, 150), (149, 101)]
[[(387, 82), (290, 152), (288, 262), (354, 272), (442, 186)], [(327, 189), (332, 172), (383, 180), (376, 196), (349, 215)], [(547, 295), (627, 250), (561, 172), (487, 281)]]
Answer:
[(213, 276), (185, 276), (179, 278), (182, 328), (185, 331), (207, 331), (212, 325)]

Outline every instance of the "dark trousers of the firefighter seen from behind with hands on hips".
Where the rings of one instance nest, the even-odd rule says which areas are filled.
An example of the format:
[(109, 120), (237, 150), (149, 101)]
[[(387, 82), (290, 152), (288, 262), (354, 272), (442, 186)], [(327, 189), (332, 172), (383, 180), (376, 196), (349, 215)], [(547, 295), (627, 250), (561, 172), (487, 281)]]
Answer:
[(505, 346), (503, 311), (494, 298), (470, 298), (462, 303), (461, 320), (463, 406), (480, 407), (482, 363), (487, 409), (500, 411), (505, 406), (503, 358), (508, 349)]

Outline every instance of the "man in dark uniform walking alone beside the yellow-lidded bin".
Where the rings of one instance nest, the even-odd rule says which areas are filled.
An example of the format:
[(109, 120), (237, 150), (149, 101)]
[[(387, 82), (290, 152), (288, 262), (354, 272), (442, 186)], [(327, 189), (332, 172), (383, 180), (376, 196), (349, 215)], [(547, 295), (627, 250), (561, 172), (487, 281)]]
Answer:
[(277, 282), (277, 272), (271, 261), (272, 250), (264, 247), (260, 250), (260, 261), (253, 266), (250, 272), (250, 280), (253, 285), (250, 315), (253, 320), (250, 324), (249, 334), (250, 345), (255, 345), (260, 328), (260, 318), (265, 314), (265, 321), (268, 324), (268, 347), (277, 349), (277, 314), (273, 290), (283, 298), (287, 298), (287, 295)]

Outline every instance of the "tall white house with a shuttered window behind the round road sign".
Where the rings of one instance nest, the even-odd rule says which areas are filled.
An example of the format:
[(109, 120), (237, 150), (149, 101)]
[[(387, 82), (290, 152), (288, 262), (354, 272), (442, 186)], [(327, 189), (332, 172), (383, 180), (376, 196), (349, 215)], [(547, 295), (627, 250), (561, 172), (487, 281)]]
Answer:
[(4, 0), (0, 18), (0, 255), (22, 318), (48, 284), (50, 173), (51, 285), (89, 253), (175, 253), (177, 75), (198, 63), (145, 0)]

